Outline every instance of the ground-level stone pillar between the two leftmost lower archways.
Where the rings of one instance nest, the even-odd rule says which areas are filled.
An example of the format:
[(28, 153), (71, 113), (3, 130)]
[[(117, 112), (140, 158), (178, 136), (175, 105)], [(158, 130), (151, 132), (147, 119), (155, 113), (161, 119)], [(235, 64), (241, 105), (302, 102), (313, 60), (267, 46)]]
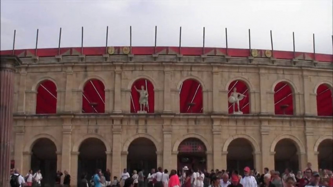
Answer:
[[(72, 134), (72, 116), (62, 116), (63, 118), (63, 143), (61, 150), (61, 171), (71, 171), (71, 134)], [(59, 150), (57, 150), (59, 151)], [(73, 173), (72, 173), (73, 174)], [(74, 184), (74, 183), (73, 183)]]

